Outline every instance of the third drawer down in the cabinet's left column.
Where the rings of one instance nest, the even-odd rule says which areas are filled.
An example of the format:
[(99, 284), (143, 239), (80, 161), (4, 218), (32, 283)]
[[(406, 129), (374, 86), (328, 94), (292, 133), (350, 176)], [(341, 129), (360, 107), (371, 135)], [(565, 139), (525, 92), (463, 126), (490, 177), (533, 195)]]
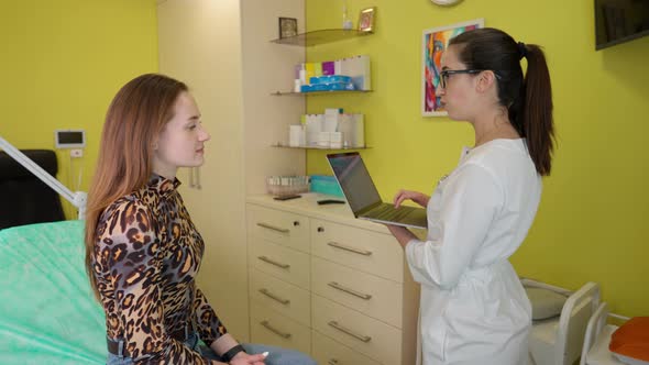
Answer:
[(260, 270), (250, 270), (250, 298), (260, 305), (311, 325), (311, 295), (299, 287), (282, 281)]

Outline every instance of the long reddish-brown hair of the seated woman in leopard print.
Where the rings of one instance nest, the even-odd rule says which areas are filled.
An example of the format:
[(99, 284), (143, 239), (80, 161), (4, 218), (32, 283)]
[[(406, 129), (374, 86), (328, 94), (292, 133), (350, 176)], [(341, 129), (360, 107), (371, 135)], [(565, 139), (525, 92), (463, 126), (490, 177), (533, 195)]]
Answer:
[(86, 210), (86, 272), (97, 299), (92, 255), (98, 220), (109, 204), (148, 180), (153, 143), (174, 117), (174, 104), (183, 91), (187, 86), (178, 80), (146, 74), (124, 85), (108, 108)]

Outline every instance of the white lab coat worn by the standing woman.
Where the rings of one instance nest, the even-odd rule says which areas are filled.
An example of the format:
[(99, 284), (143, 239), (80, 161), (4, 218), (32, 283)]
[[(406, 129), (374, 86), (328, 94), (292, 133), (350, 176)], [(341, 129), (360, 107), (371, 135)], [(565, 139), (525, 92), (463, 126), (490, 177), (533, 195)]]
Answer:
[(421, 284), (424, 365), (525, 364), (531, 307), (508, 257), (534, 221), (541, 178), (524, 140), (464, 148), (406, 257)]

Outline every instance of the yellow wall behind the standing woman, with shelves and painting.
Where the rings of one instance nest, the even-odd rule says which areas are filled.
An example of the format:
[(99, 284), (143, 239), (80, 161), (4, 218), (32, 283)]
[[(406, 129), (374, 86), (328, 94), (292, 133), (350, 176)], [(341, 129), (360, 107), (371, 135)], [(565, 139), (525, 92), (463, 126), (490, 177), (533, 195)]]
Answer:
[[(515, 38), (544, 46), (559, 135), (536, 222), (512, 262), (518, 273), (568, 288), (602, 286), (614, 312), (649, 314), (649, 37), (595, 52), (593, 0), (354, 0), (350, 13), (377, 7), (372, 36), (310, 47), (309, 60), (353, 54), (372, 59), (374, 92), (309, 97), (366, 114), (362, 152), (384, 199), (399, 188), (431, 192), (473, 144), (466, 123), (420, 114), (421, 33), (484, 18)], [(340, 27), (341, 0), (307, 0), (308, 30)], [(324, 153), (309, 152), (309, 174), (330, 174)]]

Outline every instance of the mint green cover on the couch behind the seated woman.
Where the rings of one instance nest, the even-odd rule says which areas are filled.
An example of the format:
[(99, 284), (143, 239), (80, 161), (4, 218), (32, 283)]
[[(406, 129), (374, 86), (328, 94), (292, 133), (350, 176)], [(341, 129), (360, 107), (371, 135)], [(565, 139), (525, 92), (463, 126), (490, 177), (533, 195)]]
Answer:
[(84, 221), (0, 231), (0, 364), (106, 363), (84, 255)]

